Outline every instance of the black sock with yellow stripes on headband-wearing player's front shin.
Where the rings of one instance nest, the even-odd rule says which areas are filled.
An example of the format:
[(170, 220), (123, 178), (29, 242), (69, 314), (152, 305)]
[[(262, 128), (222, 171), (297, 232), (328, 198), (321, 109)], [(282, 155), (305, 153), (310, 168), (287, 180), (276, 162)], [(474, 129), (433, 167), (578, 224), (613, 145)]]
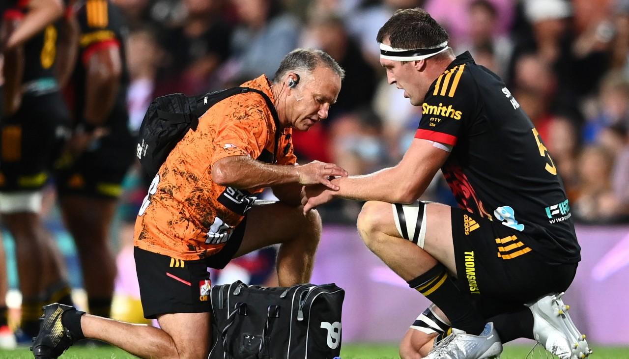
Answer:
[(485, 328), (486, 323), (476, 311), (474, 304), (454, 285), (441, 263), (437, 263), (419, 277), (409, 280), (408, 285), (435, 303), (450, 319), (453, 328), (473, 335), (481, 334)]

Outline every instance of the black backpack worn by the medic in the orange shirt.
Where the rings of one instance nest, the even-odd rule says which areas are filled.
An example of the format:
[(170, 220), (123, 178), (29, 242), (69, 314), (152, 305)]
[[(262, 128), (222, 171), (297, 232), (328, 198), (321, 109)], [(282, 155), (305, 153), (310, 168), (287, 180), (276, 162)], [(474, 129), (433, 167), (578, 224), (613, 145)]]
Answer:
[(257, 89), (231, 87), (230, 89), (208, 92), (203, 96), (188, 97), (184, 94), (170, 94), (154, 99), (148, 106), (138, 133), (136, 156), (140, 159), (142, 168), (150, 177), (155, 177), (170, 151), (186, 136), (188, 130), (196, 131), (199, 117), (203, 116), (209, 108), (227, 97), (251, 91), (264, 98), (276, 123), (276, 150), (271, 160), (274, 162), (281, 131), (273, 102), (269, 96)]

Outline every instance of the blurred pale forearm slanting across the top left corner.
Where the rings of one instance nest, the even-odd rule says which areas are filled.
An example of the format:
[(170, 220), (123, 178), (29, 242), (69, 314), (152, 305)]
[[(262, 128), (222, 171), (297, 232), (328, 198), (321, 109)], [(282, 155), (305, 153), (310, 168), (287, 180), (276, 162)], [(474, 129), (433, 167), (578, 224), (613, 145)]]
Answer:
[(5, 48), (11, 50), (26, 42), (63, 14), (60, 0), (32, 0), (28, 13), (21, 19), (19, 26), (11, 33)]

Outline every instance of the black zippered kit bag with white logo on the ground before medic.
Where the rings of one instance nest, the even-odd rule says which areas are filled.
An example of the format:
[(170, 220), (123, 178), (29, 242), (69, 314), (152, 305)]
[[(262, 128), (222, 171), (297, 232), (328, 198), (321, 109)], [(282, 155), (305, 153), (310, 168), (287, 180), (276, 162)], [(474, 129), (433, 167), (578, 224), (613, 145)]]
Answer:
[(215, 285), (209, 359), (333, 359), (344, 297), (336, 284)]

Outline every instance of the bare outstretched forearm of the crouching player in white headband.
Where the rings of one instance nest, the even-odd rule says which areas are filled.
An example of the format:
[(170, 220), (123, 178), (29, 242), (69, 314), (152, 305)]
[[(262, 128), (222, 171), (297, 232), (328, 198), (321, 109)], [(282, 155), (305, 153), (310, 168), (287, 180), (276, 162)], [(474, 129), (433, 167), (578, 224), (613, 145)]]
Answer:
[(404, 175), (403, 169), (389, 167), (369, 175), (339, 177), (332, 181), (340, 187), (335, 197), (357, 201), (413, 203), (430, 184), (430, 179)]

